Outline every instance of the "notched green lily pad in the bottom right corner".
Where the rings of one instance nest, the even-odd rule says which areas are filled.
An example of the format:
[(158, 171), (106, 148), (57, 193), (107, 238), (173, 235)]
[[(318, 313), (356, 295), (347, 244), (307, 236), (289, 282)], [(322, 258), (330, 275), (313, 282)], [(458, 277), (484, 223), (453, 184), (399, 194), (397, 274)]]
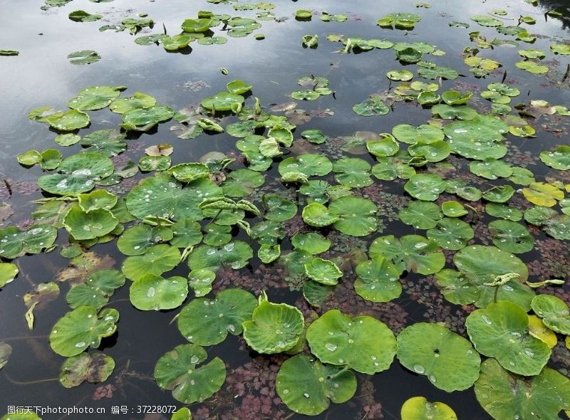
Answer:
[(494, 419), (557, 419), (561, 409), (570, 409), (570, 381), (548, 367), (536, 377), (519, 377), (487, 359), (475, 396)]

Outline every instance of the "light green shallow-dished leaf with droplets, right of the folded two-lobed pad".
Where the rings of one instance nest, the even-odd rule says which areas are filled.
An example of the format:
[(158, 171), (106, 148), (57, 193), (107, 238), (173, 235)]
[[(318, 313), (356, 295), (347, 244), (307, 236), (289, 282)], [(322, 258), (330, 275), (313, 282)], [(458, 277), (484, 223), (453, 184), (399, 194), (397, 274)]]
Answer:
[(140, 310), (178, 308), (188, 295), (188, 282), (180, 276), (162, 278), (142, 274), (130, 285), (130, 303)]

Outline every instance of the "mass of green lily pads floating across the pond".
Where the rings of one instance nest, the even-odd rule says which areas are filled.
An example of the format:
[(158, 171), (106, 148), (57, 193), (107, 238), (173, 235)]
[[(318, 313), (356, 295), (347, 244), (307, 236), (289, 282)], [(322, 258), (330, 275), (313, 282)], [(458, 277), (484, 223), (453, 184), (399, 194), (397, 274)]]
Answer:
[[(234, 9), (264, 13), (272, 7), (235, 4)], [(247, 36), (259, 27), (253, 19), (200, 13), (198, 19), (182, 24), (180, 35), (143, 36), (137, 42), (162, 43), (167, 50), (175, 50), (193, 40), (224, 43), (210, 33), (210, 28), (222, 23), (233, 36)], [(499, 11), (493, 13), (502, 16)], [(298, 12), (297, 17), (310, 19), (309, 14)], [(95, 20), (89, 16), (94, 15), (74, 12), (73, 18)], [(321, 14), (321, 20), (343, 21), (343, 15)], [(472, 20), (531, 42), (532, 35), (520, 26), (503, 26), (492, 16)], [(378, 26), (411, 30), (419, 21), (415, 14), (390, 14)], [(522, 16), (520, 23), (533, 22)], [(138, 23), (133, 25), (136, 33)], [(128, 23), (123, 26), (133, 33)], [(479, 33), (470, 36), (477, 48), (489, 48)], [(506, 136), (536, 135), (528, 120), (512, 113), (513, 108), (525, 110), (527, 116), (537, 112), (564, 117), (568, 110), (544, 100), (511, 107), (508, 104), (520, 90), (503, 80), (489, 83), (480, 94), (492, 104), (492, 112), (482, 112), (470, 106), (475, 99), (472, 93), (438, 93), (440, 85), (430, 80), (452, 80), (458, 73), (423, 61), (425, 54), (442, 55), (430, 44), (337, 35), (328, 39), (343, 43), (342, 53), (393, 48), (400, 62), (416, 63), (418, 77), (426, 80), (411, 81), (414, 75), (409, 70), (391, 70), (386, 77), (402, 83), (389, 95), (373, 95), (355, 105), (358, 115), (386, 114), (396, 101), (415, 101), (430, 110), (431, 119), (419, 126), (398, 124), (390, 132), (363, 139), (366, 157), (336, 159), (326, 147), (329, 135), (318, 129), (298, 134), (287, 115), (269, 112), (252, 96), (252, 85), (243, 80), (232, 80), (226, 90), (202, 98), (199, 107), (178, 111), (157, 104), (146, 93), (126, 96), (122, 95), (125, 86), (102, 85), (79, 91), (68, 100), (66, 110), (38, 107), (29, 112), (31, 120), (46, 123), (58, 133), (56, 145), (76, 153), (66, 153), (64, 158), (53, 147), (19, 154), (24, 167), (38, 165), (45, 172), (38, 178), (45, 197), (36, 200), (33, 226), (0, 229), (0, 257), (14, 260), (59, 248), (61, 256), (71, 258), (73, 264), (87, 258), (98, 243), (115, 239), (125, 256), (120, 270), (90, 272), (68, 290), (70, 310), (49, 336), (53, 351), (66, 357), (61, 384), (103, 382), (113, 373), (113, 358), (95, 350), (118, 328), (118, 310), (108, 303), (115, 290), (128, 283), (130, 302), (138, 310), (182, 307), (177, 327), (181, 340), (187, 342), (160, 357), (154, 379), (183, 404), (204, 401), (219, 391), (226, 365), (219, 357), (209, 359), (204, 347), (239, 335), (261, 355), (291, 356), (281, 364), (276, 392), (300, 414), (320, 414), (331, 401), (348, 401), (356, 393), (356, 373), (383, 372), (395, 357), (437, 389), (455, 392), (475, 387), (477, 400), (494, 419), (548, 419), (556, 418), (562, 409), (570, 410), (569, 379), (546, 366), (559, 337), (565, 337), (569, 346), (570, 310), (564, 300), (536, 292), (537, 288), (549, 291), (564, 280), (530, 280), (527, 265), (517, 256), (533, 250), (537, 232), (558, 241), (570, 240), (570, 184), (537, 180), (529, 169), (503, 159), (508, 150)], [(307, 38), (306, 46), (316, 45), (317, 40)], [(570, 53), (565, 44), (553, 44), (551, 50)], [(475, 77), (488, 76), (500, 66), (477, 56), (473, 48), (464, 53)], [(545, 56), (534, 50), (519, 54), (527, 59), (521, 63), (536, 63)], [(525, 70), (533, 66), (517, 64)], [(291, 93), (294, 100), (333, 94), (323, 76), (304, 76), (297, 83), (306, 89)], [(90, 125), (89, 112), (107, 108), (120, 117), (118, 127), (81, 131)], [(174, 147), (165, 143), (147, 147), (138, 162), (116, 159), (127, 155), (130, 133), (148, 132), (171, 120), (176, 124), (170, 130), (181, 140), (201, 141), (206, 135), (225, 133), (233, 137), (235, 147), (227, 153), (212, 151), (198, 162), (174, 165), (170, 157)], [(303, 147), (296, 149), (300, 144)], [(478, 181), (475, 185), (488, 188), (431, 170), (451, 157), (465, 164)], [(548, 147), (539, 159), (563, 173), (570, 169), (570, 147)], [(118, 193), (115, 187), (128, 185), (125, 180), (131, 178), (138, 183)], [(378, 236), (380, 203), (365, 194), (374, 184), (408, 194), (410, 200), (398, 217), (413, 233)], [(264, 189), (267, 186), (270, 192)], [(524, 211), (509, 204), (514, 199), (524, 200)], [(486, 215), (477, 211), (480, 203)], [(472, 222), (482, 217), (492, 218), (487, 228), (493, 245), (475, 239)], [(294, 219), (302, 227), (289, 237), (284, 224)], [(66, 238), (63, 230), (68, 243), (56, 244), (58, 236)], [(328, 253), (331, 232), (370, 240), (353, 279), (342, 256)], [(446, 255), (451, 258), (447, 267)], [(467, 336), (435, 322), (416, 322), (396, 336), (375, 317), (353, 317), (336, 309), (306, 317), (293, 305), (271, 302), (266, 290), (232, 287), (212, 293), (220, 270), (239, 271), (259, 261), (299, 275), (304, 298), (317, 311), (320, 297), (339, 283), (352, 283), (361, 298), (382, 304), (400, 297), (408, 273), (433, 275), (445, 300), (472, 305), (465, 321)], [(181, 267), (184, 275), (168, 274)], [(18, 273), (16, 264), (0, 263), (0, 288)], [(26, 313), (31, 326), (34, 307), (31, 303)], [(10, 353), (11, 347), (0, 343), (0, 367)], [(190, 411), (182, 410), (172, 419), (190, 418)], [(456, 418), (449, 406), (431, 404), (423, 397), (406, 401), (402, 416)]]

